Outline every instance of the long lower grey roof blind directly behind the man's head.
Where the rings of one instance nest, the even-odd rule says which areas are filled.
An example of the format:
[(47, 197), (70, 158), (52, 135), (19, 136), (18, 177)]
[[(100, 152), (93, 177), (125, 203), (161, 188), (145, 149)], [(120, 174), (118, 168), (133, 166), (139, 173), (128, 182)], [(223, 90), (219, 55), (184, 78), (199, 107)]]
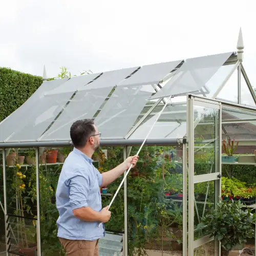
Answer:
[(78, 91), (40, 140), (70, 140), (73, 122), (93, 118), (112, 88)]

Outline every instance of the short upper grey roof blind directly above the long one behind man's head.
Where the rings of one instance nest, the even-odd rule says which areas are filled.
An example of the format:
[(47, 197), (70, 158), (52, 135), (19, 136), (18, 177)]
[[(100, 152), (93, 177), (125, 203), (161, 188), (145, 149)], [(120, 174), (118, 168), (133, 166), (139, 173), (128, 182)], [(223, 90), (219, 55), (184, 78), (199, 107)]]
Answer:
[(104, 72), (95, 81), (91, 82), (86, 87), (79, 88), (78, 91), (114, 87), (117, 85), (117, 83), (121, 82), (127, 76), (131, 75), (137, 68), (138, 67)]

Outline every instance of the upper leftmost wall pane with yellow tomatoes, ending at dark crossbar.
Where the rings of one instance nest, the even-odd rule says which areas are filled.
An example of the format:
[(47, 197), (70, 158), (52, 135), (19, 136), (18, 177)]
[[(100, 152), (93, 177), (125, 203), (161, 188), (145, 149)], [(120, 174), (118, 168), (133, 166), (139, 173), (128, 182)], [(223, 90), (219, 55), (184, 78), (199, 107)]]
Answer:
[(37, 218), (34, 148), (6, 148), (6, 194), (7, 215)]

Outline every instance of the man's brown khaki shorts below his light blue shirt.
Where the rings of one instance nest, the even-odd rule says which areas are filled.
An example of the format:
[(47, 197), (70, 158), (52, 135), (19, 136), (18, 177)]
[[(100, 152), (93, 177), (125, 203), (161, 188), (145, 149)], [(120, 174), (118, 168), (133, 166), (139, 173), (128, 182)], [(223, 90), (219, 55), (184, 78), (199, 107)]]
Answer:
[(59, 238), (60, 243), (67, 252), (67, 256), (98, 256), (99, 240), (69, 240)]

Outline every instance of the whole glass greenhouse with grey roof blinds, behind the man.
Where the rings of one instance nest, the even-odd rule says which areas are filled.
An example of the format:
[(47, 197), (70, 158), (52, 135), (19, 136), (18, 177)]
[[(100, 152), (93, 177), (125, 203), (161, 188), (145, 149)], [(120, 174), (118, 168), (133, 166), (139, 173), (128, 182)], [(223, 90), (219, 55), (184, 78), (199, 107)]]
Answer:
[[(71, 124), (92, 118), (100, 172), (135, 155), (153, 127), (111, 206), (100, 255), (220, 255), (201, 220), (221, 197), (256, 207), (256, 96), (242, 49), (45, 80), (0, 123), (0, 254), (65, 255), (55, 190)], [(122, 178), (101, 188), (102, 206)]]

